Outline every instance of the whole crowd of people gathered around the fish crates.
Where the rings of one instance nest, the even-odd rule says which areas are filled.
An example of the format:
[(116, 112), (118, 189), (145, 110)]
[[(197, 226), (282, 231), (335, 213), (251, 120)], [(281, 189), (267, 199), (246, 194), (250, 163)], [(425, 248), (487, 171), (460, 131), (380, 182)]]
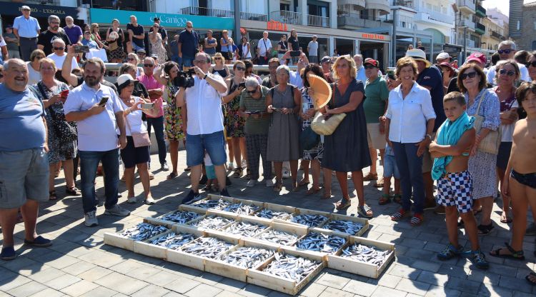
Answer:
[[(26, 14), (23, 7), (21, 17)], [(432, 63), (422, 49), (408, 49), (394, 73), (383, 75), (378, 61), (359, 54), (318, 59), (309, 49), (307, 57), (296, 49), (296, 31), (288, 43), (282, 36), (277, 56), (272, 56), (264, 32), (255, 49), (257, 63), (268, 65), (263, 79), (253, 72), (246, 37), (237, 49), (226, 31), (219, 41), (212, 34), (200, 41), (191, 22), (170, 42), (177, 46), (172, 61), (167, 61), (167, 33), (157, 20), (149, 32), (151, 54), (145, 51), (144, 29), (135, 16), (126, 31), (114, 20), (102, 40), (98, 25), (71, 31), (68, 18), (67, 27), (59, 30), (59, 18), (50, 16), (43, 33), (39, 25), (22, 24), (16, 22), (14, 34), (21, 44), (35, 38), (36, 46), (21, 51), (27, 61), (6, 59), (0, 77), (4, 260), (16, 257), (13, 231), (19, 213), (26, 244), (51, 244), (37, 235), (36, 218), (39, 202), (58, 198), (54, 178), (60, 168), (66, 195), (82, 196), (86, 226), (99, 224), (96, 206), (102, 204), (106, 215), (129, 215), (119, 205), (118, 187), (124, 181), (126, 202), (137, 203), (135, 168), (144, 203), (155, 203), (149, 171), (153, 130), (159, 168), (171, 171), (167, 179), (177, 178), (179, 169), (190, 171), (192, 187), (181, 203), (199, 198), (202, 189), (229, 196), (228, 171), (233, 178), (247, 178), (248, 187), (260, 182), (275, 192), (290, 178), (285, 186), (289, 191), (311, 196), (322, 191), (320, 197), (327, 200), (335, 176), (342, 192), (335, 203), (338, 211), (352, 203), (351, 178), (358, 213), (365, 218), (374, 211), (364, 196), (364, 181), (382, 188), (379, 205), (400, 204), (392, 221), (408, 217), (412, 226), (420, 226), (427, 209), (445, 215), (449, 244), (437, 255), (442, 260), (465, 256), (477, 268), (489, 267), (478, 238), (495, 228), (491, 215), (497, 196), (502, 198), (500, 222), (512, 223), (512, 240), (490, 256), (522, 260), (523, 237), (536, 234), (534, 223), (527, 228), (526, 216), (530, 205), (536, 218), (536, 158), (530, 152), (536, 139), (536, 52), (519, 51), (512, 41), (500, 43), (495, 61), (474, 53), (461, 66), (445, 52)], [(102, 59), (85, 57), (79, 67), (74, 45), (84, 42), (105, 46), (109, 60), (123, 62), (115, 84), (104, 79)], [(290, 64), (297, 70), (289, 69)], [(332, 89), (329, 101), (318, 109), (311, 75)], [(342, 114), (332, 134), (304, 148), (302, 135), (309, 134), (314, 119)], [(178, 161), (181, 144), (186, 147), (185, 168)], [(95, 195), (99, 173), (104, 175), (104, 201)], [(468, 251), (459, 244), (458, 228), (465, 228)], [(536, 274), (527, 280), (536, 283)]]

